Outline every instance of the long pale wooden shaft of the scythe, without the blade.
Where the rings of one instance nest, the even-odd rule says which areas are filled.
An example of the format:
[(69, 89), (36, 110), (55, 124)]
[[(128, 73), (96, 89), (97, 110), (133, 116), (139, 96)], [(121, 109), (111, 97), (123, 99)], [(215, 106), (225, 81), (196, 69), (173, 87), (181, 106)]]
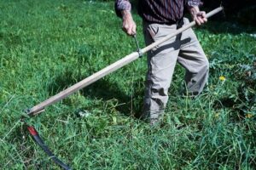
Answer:
[[(209, 12), (207, 14), (207, 18), (211, 17), (213, 14), (217, 14), (221, 10), (223, 10), (223, 7), (219, 7), (219, 8), (212, 10), (211, 12)], [(166, 42), (167, 40), (171, 39), (172, 37), (177, 36), (177, 34), (189, 29), (192, 26), (195, 26), (195, 21), (190, 22), (188, 25), (183, 26), (182, 28), (178, 29), (177, 31), (173, 32), (172, 34), (170, 34), (166, 37), (163, 37), (162, 39), (160, 39), (160, 41), (154, 42), (154, 43), (148, 45), (147, 47), (143, 48), (142, 49), (143, 54), (148, 52), (150, 49), (154, 48), (155, 46), (160, 45), (162, 42)], [(50, 97), (49, 99), (44, 100), (42, 103), (33, 106), (31, 109), (26, 111), (27, 115), (29, 115), (29, 116), (38, 115), (39, 113), (44, 111), (44, 108), (46, 106), (53, 105), (57, 101), (60, 101), (61, 99), (66, 98), (70, 94), (73, 94), (73, 93), (79, 91), (81, 88), (84, 88), (84, 87), (90, 85), (91, 83), (96, 82), (97, 80), (101, 79), (102, 77), (107, 76), (109, 73), (118, 70), (119, 68), (123, 67), (124, 65), (128, 65), (133, 60), (138, 59), (138, 57), (139, 57), (139, 54), (137, 52), (133, 52), (129, 55), (126, 55), (123, 59), (119, 59), (112, 65), (108, 65), (101, 71), (94, 73), (90, 77), (87, 77), (80, 82), (77, 82), (73, 86), (61, 91), (59, 94), (55, 94), (54, 96)]]

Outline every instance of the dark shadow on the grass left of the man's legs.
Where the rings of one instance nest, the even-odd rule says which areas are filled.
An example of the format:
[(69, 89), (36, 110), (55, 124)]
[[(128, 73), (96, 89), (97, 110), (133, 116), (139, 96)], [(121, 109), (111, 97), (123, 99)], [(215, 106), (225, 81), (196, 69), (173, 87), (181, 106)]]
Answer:
[[(58, 77), (49, 84), (48, 90), (49, 94), (55, 95), (60, 93), (62, 90), (73, 86), (73, 84), (81, 81), (82, 79), (78, 79), (75, 81), (73, 78), (72, 71), (66, 71), (62, 73)], [(135, 82), (135, 83), (142, 83), (142, 82)], [(135, 87), (139, 85), (135, 84)], [(120, 113), (124, 114), (125, 116), (134, 116), (136, 118), (140, 117), (140, 111), (142, 110), (142, 99), (139, 99), (139, 96), (143, 96), (143, 90), (141, 88), (135, 88), (133, 93), (133, 98), (131, 96), (125, 94), (121, 89), (118, 88), (119, 84), (117, 82), (109, 82), (105, 79), (101, 79), (90, 86), (85, 87), (80, 90), (80, 93), (84, 95), (84, 97), (90, 97), (91, 99), (102, 99), (103, 101), (108, 101), (109, 99), (117, 99), (119, 104), (125, 105), (118, 105), (115, 109)], [(139, 101), (139, 106), (136, 102), (132, 101)]]

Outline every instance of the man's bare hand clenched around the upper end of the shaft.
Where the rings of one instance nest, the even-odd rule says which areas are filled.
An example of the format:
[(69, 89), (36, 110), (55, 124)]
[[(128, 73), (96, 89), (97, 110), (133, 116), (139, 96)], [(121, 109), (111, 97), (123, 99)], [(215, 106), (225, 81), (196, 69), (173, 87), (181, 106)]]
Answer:
[(192, 15), (193, 20), (195, 20), (198, 26), (207, 22), (207, 14), (205, 11), (200, 11), (198, 7), (190, 7), (189, 12)]

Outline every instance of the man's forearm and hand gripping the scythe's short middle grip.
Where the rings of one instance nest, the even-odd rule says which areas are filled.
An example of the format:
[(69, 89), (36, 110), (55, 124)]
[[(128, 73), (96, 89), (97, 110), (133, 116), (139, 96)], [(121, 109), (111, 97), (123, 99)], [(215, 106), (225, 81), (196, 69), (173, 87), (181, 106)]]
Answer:
[(123, 19), (122, 29), (128, 35), (136, 34), (136, 24), (131, 16), (131, 3), (129, 0), (116, 0), (115, 10), (117, 14)]

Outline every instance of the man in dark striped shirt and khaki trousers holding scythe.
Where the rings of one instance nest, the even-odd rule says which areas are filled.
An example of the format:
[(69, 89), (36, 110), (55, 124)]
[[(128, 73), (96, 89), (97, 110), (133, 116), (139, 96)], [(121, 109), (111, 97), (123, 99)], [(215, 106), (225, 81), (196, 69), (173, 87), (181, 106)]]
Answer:
[[(138, 0), (138, 14), (143, 18), (146, 45), (188, 24), (189, 20), (183, 18), (184, 7), (189, 9), (197, 25), (207, 22), (206, 13), (200, 11), (200, 5), (201, 0)], [(115, 9), (123, 19), (123, 30), (130, 36), (135, 35), (136, 24), (131, 16), (129, 0), (116, 0)], [(143, 117), (151, 125), (159, 122), (166, 108), (176, 62), (186, 70), (186, 94), (200, 94), (207, 82), (209, 63), (192, 29), (183, 31), (148, 52)]]

